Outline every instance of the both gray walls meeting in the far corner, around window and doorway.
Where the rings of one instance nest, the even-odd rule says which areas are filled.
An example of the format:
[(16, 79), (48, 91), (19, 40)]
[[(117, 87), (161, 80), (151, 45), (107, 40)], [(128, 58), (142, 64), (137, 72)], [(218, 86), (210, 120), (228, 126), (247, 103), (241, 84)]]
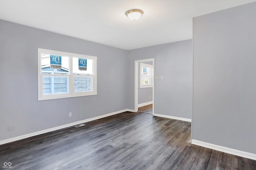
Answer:
[[(98, 95), (38, 101), (38, 48), (97, 56)], [(164, 76), (155, 113), (190, 119), (192, 40), (126, 51), (0, 20), (0, 140), (134, 109), (134, 60), (148, 58)]]

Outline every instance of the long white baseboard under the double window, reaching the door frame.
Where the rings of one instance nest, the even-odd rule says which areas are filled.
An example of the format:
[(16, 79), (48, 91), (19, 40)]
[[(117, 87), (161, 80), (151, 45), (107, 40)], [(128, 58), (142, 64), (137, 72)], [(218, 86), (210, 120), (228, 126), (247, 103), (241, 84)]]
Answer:
[(62, 129), (62, 128), (72, 127), (72, 126), (75, 126), (75, 125), (78, 125), (78, 124), (81, 124), (81, 123), (86, 123), (86, 122), (94, 121), (96, 119), (101, 119), (101, 118), (104, 118), (104, 117), (116, 115), (116, 114), (123, 113), (123, 112), (126, 112), (126, 111), (132, 111), (133, 112), (134, 110), (124, 109), (124, 110), (121, 110), (121, 111), (116, 111), (116, 112), (113, 112), (113, 113), (108, 113), (106, 115), (101, 115), (101, 116), (93, 117), (93, 118), (90, 118), (90, 119), (84, 119), (82, 121), (77, 121), (77, 122), (69, 123), (69, 124), (66, 124), (66, 125), (61, 125), (61, 126), (54, 127), (54, 128), (48, 128), (48, 129), (45, 129), (45, 130), (40, 130), (38, 132), (33, 132), (33, 133), (17, 136), (17, 137), (14, 137), (14, 138), (9, 138), (9, 139), (5, 139), (5, 140), (1, 140), (0, 141), (0, 145), (1, 144), (6, 144), (6, 143), (9, 143), (9, 142), (14, 142), (16, 140), (21, 140), (21, 139), (24, 139), (24, 138), (29, 138), (29, 137), (36, 136), (36, 135), (39, 135), (39, 134), (44, 134), (44, 133), (47, 133), (47, 132), (52, 132), (54, 130), (59, 130), (59, 129)]

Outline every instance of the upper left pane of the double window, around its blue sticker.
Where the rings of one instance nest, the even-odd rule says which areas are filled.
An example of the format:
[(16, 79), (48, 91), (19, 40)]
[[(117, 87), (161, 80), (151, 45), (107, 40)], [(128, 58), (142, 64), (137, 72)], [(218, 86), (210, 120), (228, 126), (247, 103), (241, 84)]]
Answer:
[(51, 69), (50, 54), (42, 53), (42, 55), (41, 55), (41, 71), (43, 74), (68, 74), (69, 57), (61, 56), (61, 69)]

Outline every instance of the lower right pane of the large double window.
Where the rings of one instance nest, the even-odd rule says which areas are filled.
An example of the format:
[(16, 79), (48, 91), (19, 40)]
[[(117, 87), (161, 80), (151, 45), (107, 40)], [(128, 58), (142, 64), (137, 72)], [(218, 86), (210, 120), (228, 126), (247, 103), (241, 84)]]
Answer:
[(74, 92), (92, 91), (92, 76), (74, 76)]

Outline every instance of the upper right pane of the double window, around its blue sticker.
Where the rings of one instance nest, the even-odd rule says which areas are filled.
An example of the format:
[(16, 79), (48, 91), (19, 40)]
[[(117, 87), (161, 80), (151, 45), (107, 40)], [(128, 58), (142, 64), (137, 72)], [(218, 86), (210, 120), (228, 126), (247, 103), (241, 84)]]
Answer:
[(86, 71), (79, 70), (79, 62), (84, 62), (83, 58), (73, 57), (73, 74), (89, 74), (93, 75), (93, 59), (86, 59), (87, 69)]

